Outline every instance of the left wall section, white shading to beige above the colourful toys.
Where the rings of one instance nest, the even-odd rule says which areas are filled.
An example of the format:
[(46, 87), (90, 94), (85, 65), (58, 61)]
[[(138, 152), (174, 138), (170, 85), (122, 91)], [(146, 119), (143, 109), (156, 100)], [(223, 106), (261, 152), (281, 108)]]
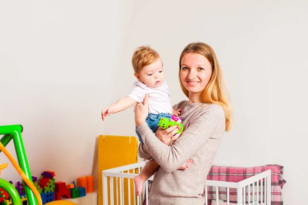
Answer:
[[(110, 101), (133, 5), (0, 1), (0, 125), (23, 125), (32, 175), (51, 170), (65, 182), (97, 175), (100, 112)], [(13, 142), (7, 149), (16, 158)], [(1, 177), (21, 180), (12, 165)]]

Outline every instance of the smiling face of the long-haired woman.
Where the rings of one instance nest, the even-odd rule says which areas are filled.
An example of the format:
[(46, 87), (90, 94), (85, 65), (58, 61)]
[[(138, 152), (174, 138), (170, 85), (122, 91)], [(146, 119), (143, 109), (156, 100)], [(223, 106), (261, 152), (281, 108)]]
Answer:
[(204, 90), (213, 73), (208, 59), (199, 53), (186, 53), (181, 60), (182, 84), (189, 92), (189, 99)]

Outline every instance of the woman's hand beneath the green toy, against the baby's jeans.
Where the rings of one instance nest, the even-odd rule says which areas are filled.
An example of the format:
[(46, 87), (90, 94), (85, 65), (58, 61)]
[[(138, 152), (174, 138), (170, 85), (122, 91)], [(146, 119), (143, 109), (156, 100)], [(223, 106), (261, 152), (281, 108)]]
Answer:
[(180, 130), (180, 126), (172, 126), (167, 129), (162, 129), (159, 127), (155, 133), (157, 138), (159, 138), (164, 144), (171, 145), (176, 139), (178, 139), (181, 135), (181, 133), (176, 134)]

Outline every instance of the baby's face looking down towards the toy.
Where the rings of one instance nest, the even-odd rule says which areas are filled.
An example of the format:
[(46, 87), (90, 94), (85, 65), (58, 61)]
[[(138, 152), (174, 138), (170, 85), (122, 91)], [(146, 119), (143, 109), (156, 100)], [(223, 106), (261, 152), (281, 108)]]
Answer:
[(142, 68), (139, 72), (140, 79), (151, 88), (160, 87), (164, 81), (164, 68), (161, 58), (154, 63)]

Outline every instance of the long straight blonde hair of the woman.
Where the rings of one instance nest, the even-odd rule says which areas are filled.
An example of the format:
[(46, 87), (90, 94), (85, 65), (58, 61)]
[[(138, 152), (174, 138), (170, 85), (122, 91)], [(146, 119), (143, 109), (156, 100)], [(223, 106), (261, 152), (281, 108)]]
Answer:
[(225, 113), (226, 127), (225, 131), (230, 131), (232, 127), (232, 108), (230, 97), (225, 85), (222, 70), (214, 50), (207, 44), (198, 42), (187, 45), (180, 56), (179, 80), (183, 93), (188, 96), (188, 90), (184, 87), (181, 80), (181, 61), (187, 53), (198, 53), (206, 57), (213, 67), (212, 76), (207, 86), (199, 93), (201, 103), (214, 103), (219, 105)]

